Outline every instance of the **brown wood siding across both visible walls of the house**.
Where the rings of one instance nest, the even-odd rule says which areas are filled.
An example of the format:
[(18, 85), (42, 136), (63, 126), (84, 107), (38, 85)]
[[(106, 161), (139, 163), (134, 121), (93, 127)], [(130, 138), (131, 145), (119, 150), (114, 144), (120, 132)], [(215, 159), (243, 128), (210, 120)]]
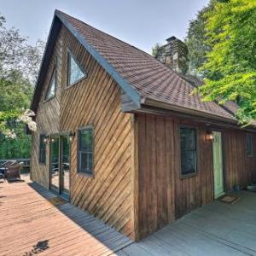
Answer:
[[(68, 88), (67, 48), (88, 73)], [(44, 102), (55, 65), (56, 96)], [(39, 102), (38, 131), (32, 135), (31, 176), (49, 188), (49, 144), (46, 165), (39, 165), (40, 133), (76, 132), (71, 143), (70, 201), (138, 240), (212, 201), (212, 143), (205, 140), (209, 129), (205, 124), (174, 116), (123, 113), (121, 96), (124, 100), (119, 85), (62, 27)], [(129, 102), (125, 106), (129, 108)], [(77, 172), (77, 131), (85, 125), (94, 126), (93, 177)], [(180, 177), (179, 125), (197, 129), (199, 172), (193, 177)], [(245, 155), (246, 132), (211, 128), (223, 134), (225, 189), (255, 179), (256, 158)]]

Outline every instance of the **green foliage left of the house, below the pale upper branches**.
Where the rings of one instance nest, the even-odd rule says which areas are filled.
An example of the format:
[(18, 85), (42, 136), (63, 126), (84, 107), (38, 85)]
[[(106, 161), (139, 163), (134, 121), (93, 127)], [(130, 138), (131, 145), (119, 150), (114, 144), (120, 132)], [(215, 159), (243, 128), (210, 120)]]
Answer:
[[(0, 79), (0, 159), (29, 157), (31, 138), (25, 133), (25, 125), (17, 122), (20, 113), (30, 104), (32, 86), (19, 73), (11, 73), (9, 79)], [(15, 138), (4, 132), (12, 131)]]

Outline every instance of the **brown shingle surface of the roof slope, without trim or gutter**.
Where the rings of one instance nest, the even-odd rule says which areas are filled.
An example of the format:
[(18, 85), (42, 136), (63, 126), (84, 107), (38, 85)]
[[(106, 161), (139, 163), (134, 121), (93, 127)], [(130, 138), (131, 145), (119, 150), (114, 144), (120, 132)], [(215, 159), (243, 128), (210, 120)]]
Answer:
[(194, 87), (153, 56), (60, 11), (56, 14), (67, 20), (143, 98), (235, 120), (217, 103), (201, 102), (199, 96), (191, 95)]

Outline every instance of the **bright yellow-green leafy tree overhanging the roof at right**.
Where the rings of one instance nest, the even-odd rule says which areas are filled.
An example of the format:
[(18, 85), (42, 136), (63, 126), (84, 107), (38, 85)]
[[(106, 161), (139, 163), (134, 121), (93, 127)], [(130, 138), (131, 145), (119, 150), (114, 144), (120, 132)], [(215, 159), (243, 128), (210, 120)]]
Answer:
[(210, 50), (198, 91), (205, 101), (236, 101), (237, 118), (250, 123), (256, 119), (256, 2), (218, 1), (203, 16)]

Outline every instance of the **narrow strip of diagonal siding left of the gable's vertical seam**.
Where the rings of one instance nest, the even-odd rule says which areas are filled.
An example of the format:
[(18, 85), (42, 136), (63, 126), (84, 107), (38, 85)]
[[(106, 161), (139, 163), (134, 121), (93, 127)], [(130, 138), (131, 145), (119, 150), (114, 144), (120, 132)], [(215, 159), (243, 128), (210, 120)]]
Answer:
[[(62, 31), (55, 43), (55, 49), (49, 63), (48, 72), (44, 81), (44, 89), (36, 116), (37, 132), (32, 133), (31, 178), (37, 183), (49, 188), (49, 143), (46, 144), (46, 164), (39, 162), (39, 137), (40, 134), (56, 133), (60, 131), (60, 102), (61, 102), (61, 67), (62, 67)], [(50, 79), (56, 67), (55, 97), (44, 102)]]

